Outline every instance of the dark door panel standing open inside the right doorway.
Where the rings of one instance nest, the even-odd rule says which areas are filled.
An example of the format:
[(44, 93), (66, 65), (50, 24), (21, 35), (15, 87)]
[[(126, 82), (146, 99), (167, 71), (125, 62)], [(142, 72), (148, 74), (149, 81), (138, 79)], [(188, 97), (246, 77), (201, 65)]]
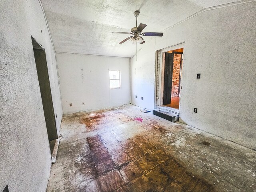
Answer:
[(168, 105), (168, 104), (171, 103), (171, 96), (172, 96), (172, 68), (173, 68), (173, 53), (165, 53), (163, 105)]

